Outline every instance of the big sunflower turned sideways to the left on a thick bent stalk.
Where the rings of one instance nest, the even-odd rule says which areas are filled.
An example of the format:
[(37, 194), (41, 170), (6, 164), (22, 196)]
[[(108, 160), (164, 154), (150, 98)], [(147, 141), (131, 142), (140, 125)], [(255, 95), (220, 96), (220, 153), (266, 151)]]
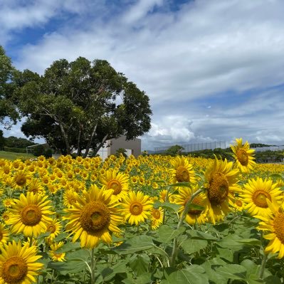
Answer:
[(221, 221), (233, 205), (234, 193), (238, 191), (238, 169), (233, 169), (233, 162), (218, 160), (215, 157), (205, 172), (205, 184), (208, 206), (208, 218), (212, 223)]

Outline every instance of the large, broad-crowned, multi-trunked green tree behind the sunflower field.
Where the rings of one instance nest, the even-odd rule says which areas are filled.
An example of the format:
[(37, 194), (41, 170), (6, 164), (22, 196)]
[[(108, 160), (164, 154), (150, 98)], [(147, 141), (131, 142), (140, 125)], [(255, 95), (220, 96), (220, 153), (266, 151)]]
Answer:
[(27, 117), (26, 136), (44, 137), (54, 149), (85, 156), (96, 154), (106, 140), (127, 140), (150, 128), (149, 98), (117, 73), (107, 61), (55, 61), (39, 76), (30, 70), (18, 74), (16, 98)]

